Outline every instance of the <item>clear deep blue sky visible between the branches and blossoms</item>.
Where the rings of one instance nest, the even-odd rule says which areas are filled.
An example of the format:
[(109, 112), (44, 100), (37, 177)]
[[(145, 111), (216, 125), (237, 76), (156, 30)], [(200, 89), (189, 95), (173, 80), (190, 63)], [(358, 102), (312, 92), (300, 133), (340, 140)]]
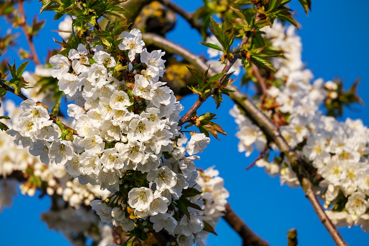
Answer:
[[(189, 11), (195, 10), (201, 4), (198, 0), (176, 0), (176, 2)], [(40, 6), (38, 1), (25, 2), (29, 21), (39, 12)], [(368, 104), (366, 92), (369, 89), (367, 83), (369, 75), (366, 73), (368, 64), (366, 59), (369, 51), (366, 44), (369, 34), (364, 24), (365, 16), (356, 14), (358, 6), (347, 4), (343, 0), (313, 0), (309, 17), (303, 13), (297, 0), (293, 0), (290, 6), (297, 10), (295, 16), (302, 26), (299, 35), (303, 42), (303, 61), (306, 62), (307, 68), (313, 71), (315, 78), (321, 77), (326, 81), (335, 76), (345, 78), (346, 88), (361, 76), (359, 95)], [(362, 1), (360, 8), (368, 9), (369, 2)], [(50, 12), (44, 12), (39, 16), (41, 19), (47, 19), (44, 30), (57, 29), (58, 22), (52, 21), (52, 16)], [(1, 25), (1, 35), (8, 27), (7, 24)], [(46, 57), (45, 47), (58, 47), (51, 35), (59, 38), (56, 33), (49, 31), (41, 32), (35, 38), (35, 46), (42, 60)], [(200, 36), (181, 18), (175, 30), (168, 34), (168, 38), (189, 47), (197, 54), (206, 54), (206, 49), (197, 43), (201, 41)], [(19, 47), (28, 48), (25, 40), (17, 46)], [(14, 58), (14, 52), (15, 50), (9, 51), (6, 56)], [(29, 68), (32, 69), (32, 66)], [(182, 104), (188, 109), (195, 100), (196, 95), (188, 96), (182, 100)], [(297, 228), (300, 246), (334, 245), (300, 188), (281, 187), (279, 178), (270, 178), (261, 168), (245, 170), (258, 154), (245, 158), (243, 153), (238, 153), (238, 140), (234, 137), (236, 124), (228, 115), (232, 106), (232, 102), (225, 99), (225, 103), (218, 110), (215, 110), (211, 100), (200, 108), (199, 114), (214, 112), (221, 116), (217, 119), (217, 123), (228, 133), (228, 137), (221, 136), (221, 141), (212, 139), (211, 144), (201, 154), (201, 160), (197, 161), (197, 166), (201, 168), (216, 166), (225, 180), (225, 187), (230, 191), (228, 201), (231, 206), (247, 225), (268, 240), (270, 245), (286, 245), (286, 232), (291, 228)], [(342, 119), (346, 117), (361, 118), (364, 124), (369, 125), (366, 107), (356, 105), (354, 110), (346, 109)], [(20, 195), (15, 198), (13, 207), (5, 209), (0, 214), (2, 245), (24, 245), (25, 242), (30, 246), (50, 243), (55, 246), (70, 245), (60, 234), (48, 230), (46, 225), (40, 222), (40, 212), (47, 211), (49, 205), (47, 197), (38, 199), (37, 196), (30, 198)], [(241, 245), (238, 235), (222, 220), (218, 223), (216, 231), (219, 236), (211, 235), (208, 239), (209, 245)], [(359, 227), (339, 231), (349, 245), (365, 245), (369, 241), (368, 233), (364, 233)]]

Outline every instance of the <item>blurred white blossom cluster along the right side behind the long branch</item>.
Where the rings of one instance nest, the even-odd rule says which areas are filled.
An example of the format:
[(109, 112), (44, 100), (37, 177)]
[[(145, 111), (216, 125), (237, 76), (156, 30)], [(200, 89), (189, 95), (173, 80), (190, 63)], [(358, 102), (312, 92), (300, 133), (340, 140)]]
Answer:
[[(277, 72), (275, 79), (282, 86), (269, 86), (270, 99), (278, 104), (276, 110), (287, 117), (286, 124), (279, 127), (280, 133), (292, 148), (297, 148), (308, 162), (316, 168), (318, 175), (315, 191), (325, 200), (330, 209), (327, 215), (337, 226), (361, 225), (369, 231), (369, 131), (361, 120), (337, 119), (325, 116), (319, 109), (322, 101), (337, 96), (337, 84), (323, 79), (311, 83), (313, 75), (301, 61), (300, 37), (294, 27), (275, 23), (266, 27), (265, 37), (274, 47), (284, 51), (284, 58), (273, 58)], [(249, 156), (254, 147), (265, 148), (266, 139), (261, 130), (252, 124), (235, 106), (231, 111), (238, 123), (236, 136), (240, 139), (239, 151)], [(266, 112), (268, 115), (271, 112)], [(272, 146), (277, 150), (276, 146)], [(302, 150), (301, 150), (302, 148)], [(300, 150), (299, 150), (300, 149)], [(256, 161), (270, 175), (280, 175), (281, 183), (299, 186), (296, 174), (287, 158), (283, 163), (261, 159)], [(320, 177), (321, 178), (320, 178)]]

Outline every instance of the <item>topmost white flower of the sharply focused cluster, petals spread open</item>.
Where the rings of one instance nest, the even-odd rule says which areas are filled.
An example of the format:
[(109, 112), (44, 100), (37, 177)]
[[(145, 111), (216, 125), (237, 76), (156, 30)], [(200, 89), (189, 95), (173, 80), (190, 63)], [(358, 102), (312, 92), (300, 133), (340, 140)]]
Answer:
[(142, 41), (141, 31), (137, 28), (132, 29), (129, 33), (124, 31), (119, 35), (119, 38), (123, 41), (118, 45), (121, 50), (129, 50), (128, 57), (130, 61), (135, 59), (136, 53), (142, 52), (142, 47), (145, 45), (145, 42)]

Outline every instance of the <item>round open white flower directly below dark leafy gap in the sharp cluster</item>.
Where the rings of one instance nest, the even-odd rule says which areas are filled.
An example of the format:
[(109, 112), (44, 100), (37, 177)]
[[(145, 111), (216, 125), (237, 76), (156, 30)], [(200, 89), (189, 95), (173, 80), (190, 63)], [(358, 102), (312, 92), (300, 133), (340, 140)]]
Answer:
[(148, 209), (152, 200), (154, 200), (154, 195), (149, 188), (132, 188), (128, 192), (128, 204), (138, 211)]

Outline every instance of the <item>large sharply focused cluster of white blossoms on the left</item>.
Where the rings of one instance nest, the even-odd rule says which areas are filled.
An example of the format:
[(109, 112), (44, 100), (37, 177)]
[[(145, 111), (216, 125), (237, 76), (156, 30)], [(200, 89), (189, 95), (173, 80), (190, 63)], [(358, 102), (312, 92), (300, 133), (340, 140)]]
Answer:
[[(101, 188), (112, 193), (90, 202), (101, 222), (125, 231), (164, 229), (176, 239), (173, 243), (203, 245), (208, 234), (203, 231), (204, 221), (215, 227), (228, 197), (223, 180), (214, 172), (202, 181), (209, 187), (207, 195), (196, 189), (202, 187), (194, 164), (199, 157), (192, 155), (202, 153), (210, 139), (194, 134), (186, 147), (177, 144), (184, 138), (178, 126), (183, 106), (159, 81), (165, 71), (165, 52), (143, 48), (138, 29), (124, 31), (120, 39), (123, 59), (102, 46), (79, 44), (68, 56), (58, 54), (49, 60), (59, 90), (73, 102), (68, 116), (74, 137), (66, 138), (66, 126), (32, 99), (21, 103), (18, 123), (7, 133), (14, 137), (16, 148), (39, 156), (47, 169), (55, 166), (68, 172), (72, 180), (64, 183), (62, 193), (55, 191), (70, 205), (78, 208), (81, 200), (86, 204), (92, 198), (88, 192), (79, 196), (81, 189), (87, 187), (96, 195), (96, 187)], [(134, 61), (136, 54), (141, 64)], [(127, 69), (129, 80), (122, 80), (115, 69), (118, 65)], [(138, 71), (139, 67), (143, 69)]]

